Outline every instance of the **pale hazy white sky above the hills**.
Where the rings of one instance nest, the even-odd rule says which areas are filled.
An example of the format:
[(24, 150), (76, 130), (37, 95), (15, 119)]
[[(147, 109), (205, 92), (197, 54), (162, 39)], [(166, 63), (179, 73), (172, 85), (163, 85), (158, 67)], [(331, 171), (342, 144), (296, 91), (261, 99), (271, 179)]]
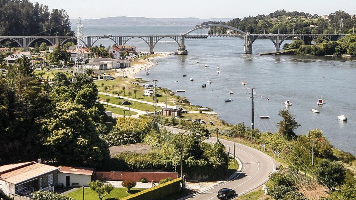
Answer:
[[(33, 3), (36, 0), (31, 0)], [(131, 17), (244, 17), (268, 15), (278, 9), (329, 15), (337, 10), (356, 13), (355, 0), (37, 0), (49, 9), (68, 12), (70, 19)]]

